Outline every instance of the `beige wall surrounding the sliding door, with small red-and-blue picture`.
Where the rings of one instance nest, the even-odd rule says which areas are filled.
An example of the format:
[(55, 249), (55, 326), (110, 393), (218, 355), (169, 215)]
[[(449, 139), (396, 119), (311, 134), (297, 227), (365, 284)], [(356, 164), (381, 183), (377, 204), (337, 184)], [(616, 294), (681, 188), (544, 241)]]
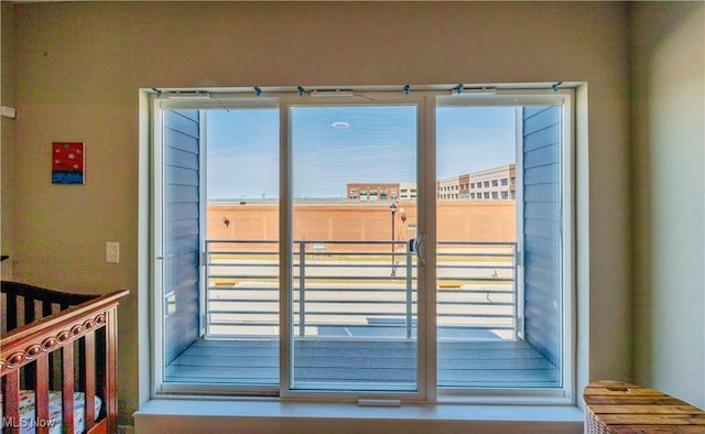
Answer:
[[(4, 2), (3, 2), (4, 3)], [(121, 421), (138, 358), (139, 88), (586, 82), (582, 378), (631, 377), (627, 7), (611, 2), (14, 4), (13, 267), (19, 280), (133, 293), (120, 306)], [(4, 76), (4, 75), (3, 75)], [(587, 96), (587, 98), (585, 98)], [(86, 143), (86, 184), (50, 183), (52, 141)], [(4, 161), (3, 161), (4, 164)], [(4, 229), (4, 228), (3, 228)], [(3, 236), (7, 236), (4, 234)], [(121, 262), (105, 262), (119, 241)], [(588, 340), (585, 345), (585, 340)], [(138, 345), (140, 344), (140, 345)], [(140, 389), (141, 388), (141, 389)]]

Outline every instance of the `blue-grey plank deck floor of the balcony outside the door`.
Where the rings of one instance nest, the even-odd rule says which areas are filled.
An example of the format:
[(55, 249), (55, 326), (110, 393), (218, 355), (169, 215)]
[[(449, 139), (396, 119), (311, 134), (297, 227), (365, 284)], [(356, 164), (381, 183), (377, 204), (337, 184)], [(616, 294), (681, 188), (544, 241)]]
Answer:
[[(406, 340), (302, 339), (294, 343), (294, 381), (304, 389), (383, 381), (413, 388), (415, 344)], [(556, 388), (560, 371), (523, 340), (442, 341), (438, 386)], [(276, 340), (199, 339), (167, 368), (167, 382), (279, 384)], [(325, 387), (325, 386), (324, 386)]]

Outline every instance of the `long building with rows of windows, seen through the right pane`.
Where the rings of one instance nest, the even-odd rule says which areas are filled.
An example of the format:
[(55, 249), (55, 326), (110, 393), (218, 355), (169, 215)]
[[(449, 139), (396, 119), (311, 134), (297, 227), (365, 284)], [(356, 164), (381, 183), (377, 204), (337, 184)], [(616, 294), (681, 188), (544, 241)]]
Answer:
[(499, 167), (453, 176), (436, 182), (438, 200), (513, 200), (517, 196), (517, 166)]

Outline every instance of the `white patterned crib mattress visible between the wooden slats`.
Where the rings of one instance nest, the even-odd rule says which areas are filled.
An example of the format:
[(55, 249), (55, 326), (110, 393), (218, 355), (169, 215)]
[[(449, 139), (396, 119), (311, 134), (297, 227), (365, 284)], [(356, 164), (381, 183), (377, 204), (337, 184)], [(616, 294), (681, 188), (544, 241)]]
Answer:
[[(85, 409), (84, 409), (84, 393), (74, 393), (74, 433), (80, 434), (86, 426)], [(96, 397), (96, 414), (100, 413), (101, 401)], [(34, 410), (34, 391), (33, 390), (20, 390), (20, 434), (32, 434), (36, 432), (39, 424), (48, 426), (51, 434), (62, 433), (62, 392), (50, 391), (48, 392), (48, 421), (37, 421)], [(6, 420), (2, 414), (2, 395), (0, 395), (0, 421), (3, 423), (0, 425), (0, 433), (3, 432), (6, 426)]]

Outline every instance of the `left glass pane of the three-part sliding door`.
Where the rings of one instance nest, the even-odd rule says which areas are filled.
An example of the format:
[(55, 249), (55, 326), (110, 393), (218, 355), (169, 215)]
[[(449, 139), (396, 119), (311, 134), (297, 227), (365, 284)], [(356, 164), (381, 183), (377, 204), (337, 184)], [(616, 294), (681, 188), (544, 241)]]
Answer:
[(185, 343), (167, 347), (164, 381), (271, 392), (280, 382), (279, 108), (164, 113), (164, 336)]

